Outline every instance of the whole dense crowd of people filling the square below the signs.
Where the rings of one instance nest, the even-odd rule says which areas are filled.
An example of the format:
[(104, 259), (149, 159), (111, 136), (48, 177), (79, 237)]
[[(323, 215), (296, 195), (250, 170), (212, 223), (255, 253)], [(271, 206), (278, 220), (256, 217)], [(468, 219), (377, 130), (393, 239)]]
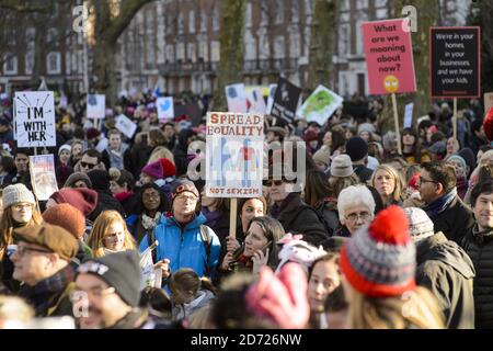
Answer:
[[(121, 97), (101, 125), (83, 104), (57, 106), (59, 190), (46, 202), (4, 109), (0, 327), (493, 327), (493, 115), (478, 101), (457, 139), (449, 105), (435, 106), (402, 131), (401, 155), (377, 99), (324, 125), (267, 116), (265, 148), (280, 145), (285, 163), (303, 152), (305, 182), (275, 177), (266, 157), (263, 194), (239, 200), (234, 228), (230, 199), (188, 177), (206, 158), (191, 147), (205, 117), (162, 123), (154, 102)], [(121, 113), (138, 124), (133, 138), (115, 127)], [(302, 151), (289, 159), (286, 141)]]

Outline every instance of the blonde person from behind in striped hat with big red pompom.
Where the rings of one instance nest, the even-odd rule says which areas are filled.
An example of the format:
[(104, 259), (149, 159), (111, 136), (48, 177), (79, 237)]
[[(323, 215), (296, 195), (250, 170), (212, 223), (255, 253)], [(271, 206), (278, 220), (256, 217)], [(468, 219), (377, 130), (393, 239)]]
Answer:
[(438, 302), (415, 282), (416, 249), (404, 211), (390, 206), (341, 250), (352, 329), (443, 329)]

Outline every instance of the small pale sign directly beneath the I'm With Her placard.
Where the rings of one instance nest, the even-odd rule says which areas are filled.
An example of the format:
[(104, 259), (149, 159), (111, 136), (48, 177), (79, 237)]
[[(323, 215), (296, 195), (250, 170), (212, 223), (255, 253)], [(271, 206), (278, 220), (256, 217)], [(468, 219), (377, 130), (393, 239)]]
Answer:
[(33, 191), (37, 200), (47, 201), (54, 192), (58, 191), (51, 154), (30, 156), (30, 172)]

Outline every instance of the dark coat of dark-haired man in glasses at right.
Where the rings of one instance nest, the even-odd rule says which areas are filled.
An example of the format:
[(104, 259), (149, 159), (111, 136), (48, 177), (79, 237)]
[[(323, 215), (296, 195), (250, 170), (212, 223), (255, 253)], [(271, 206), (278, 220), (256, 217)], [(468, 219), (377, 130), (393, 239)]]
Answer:
[(432, 220), (436, 233), (444, 233), (447, 239), (459, 245), (466, 234), (474, 226), (472, 211), (459, 196), (456, 196), (448, 207)]

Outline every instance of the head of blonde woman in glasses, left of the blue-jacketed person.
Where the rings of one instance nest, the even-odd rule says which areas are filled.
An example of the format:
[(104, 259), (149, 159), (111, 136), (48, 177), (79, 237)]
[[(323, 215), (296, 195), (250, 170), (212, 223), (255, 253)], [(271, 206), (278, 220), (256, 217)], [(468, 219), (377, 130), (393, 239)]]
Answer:
[(94, 258), (125, 250), (135, 250), (136, 242), (122, 215), (104, 211), (98, 216), (88, 239)]

